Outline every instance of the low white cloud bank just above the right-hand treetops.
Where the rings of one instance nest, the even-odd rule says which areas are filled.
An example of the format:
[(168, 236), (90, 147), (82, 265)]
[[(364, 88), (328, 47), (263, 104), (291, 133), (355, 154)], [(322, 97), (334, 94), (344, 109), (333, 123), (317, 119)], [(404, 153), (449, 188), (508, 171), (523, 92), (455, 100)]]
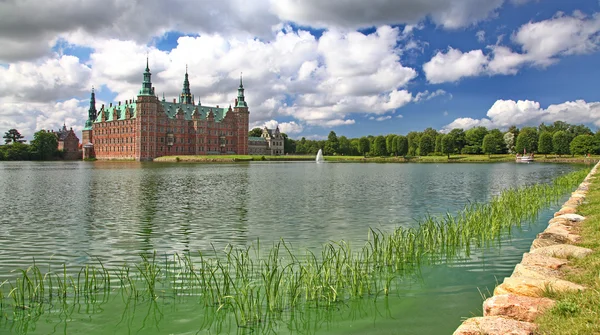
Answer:
[(600, 127), (600, 102), (567, 101), (541, 108), (539, 102), (529, 100), (498, 100), (488, 110), (487, 118), (458, 118), (444, 126), (469, 129), (478, 126), (506, 129), (509, 126), (537, 126), (541, 122), (565, 121), (573, 124), (594, 124)]

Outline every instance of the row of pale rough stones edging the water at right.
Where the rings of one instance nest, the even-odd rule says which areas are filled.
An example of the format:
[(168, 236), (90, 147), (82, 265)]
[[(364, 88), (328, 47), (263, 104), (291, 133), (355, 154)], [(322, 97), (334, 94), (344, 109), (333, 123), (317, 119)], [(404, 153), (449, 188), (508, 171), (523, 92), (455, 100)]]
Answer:
[(483, 317), (465, 320), (454, 335), (533, 335), (536, 317), (554, 306), (544, 298), (548, 291), (573, 291), (586, 288), (562, 278), (561, 268), (568, 259), (582, 258), (592, 250), (575, 246), (579, 236), (574, 233), (585, 217), (577, 214), (600, 163), (577, 190), (554, 214), (548, 227), (538, 234), (531, 249), (523, 255), (512, 275), (494, 290), (494, 296), (483, 303)]

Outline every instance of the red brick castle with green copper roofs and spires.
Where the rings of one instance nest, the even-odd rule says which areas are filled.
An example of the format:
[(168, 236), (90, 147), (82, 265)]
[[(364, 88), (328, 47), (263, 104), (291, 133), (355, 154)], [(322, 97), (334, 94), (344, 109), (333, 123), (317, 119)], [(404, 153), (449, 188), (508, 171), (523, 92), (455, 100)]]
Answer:
[(154, 94), (146, 61), (137, 100), (96, 110), (92, 89), (83, 129), (84, 158), (152, 160), (160, 156), (248, 154), (248, 105), (240, 77), (234, 107), (196, 105), (187, 69), (179, 101)]

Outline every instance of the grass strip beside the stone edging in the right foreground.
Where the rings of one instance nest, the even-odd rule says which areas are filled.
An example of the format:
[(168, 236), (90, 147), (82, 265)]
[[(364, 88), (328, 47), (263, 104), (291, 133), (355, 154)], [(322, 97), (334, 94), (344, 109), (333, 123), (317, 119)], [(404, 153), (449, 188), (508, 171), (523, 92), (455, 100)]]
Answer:
[(586, 217), (579, 246), (594, 252), (571, 261), (566, 279), (587, 287), (583, 292), (553, 294), (556, 306), (536, 320), (539, 333), (600, 334), (600, 176), (593, 179), (586, 202), (578, 207)]

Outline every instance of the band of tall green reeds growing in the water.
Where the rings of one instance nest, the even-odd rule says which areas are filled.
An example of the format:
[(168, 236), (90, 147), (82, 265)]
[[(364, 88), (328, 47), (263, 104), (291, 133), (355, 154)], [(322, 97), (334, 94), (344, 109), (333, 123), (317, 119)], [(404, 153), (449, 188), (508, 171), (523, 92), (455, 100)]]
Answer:
[(452, 261), (499, 242), (577, 187), (588, 172), (507, 189), (488, 203), (469, 203), (455, 215), (425, 216), (412, 228), (370, 228), (359, 247), (332, 241), (313, 252), (296, 250), (283, 240), (266, 248), (257, 241), (211, 253), (145, 254), (138, 264), (115, 269), (98, 260), (76, 274), (68, 274), (65, 266), (42, 272), (34, 262), (13, 281), (0, 284), (0, 315), (18, 318), (44, 304), (56, 308), (80, 300), (105, 301), (115, 292), (127, 301), (197, 299), (216, 313), (233, 313), (240, 327), (255, 327), (299, 307), (376, 299), (393, 292), (398, 278), (423, 264)]

